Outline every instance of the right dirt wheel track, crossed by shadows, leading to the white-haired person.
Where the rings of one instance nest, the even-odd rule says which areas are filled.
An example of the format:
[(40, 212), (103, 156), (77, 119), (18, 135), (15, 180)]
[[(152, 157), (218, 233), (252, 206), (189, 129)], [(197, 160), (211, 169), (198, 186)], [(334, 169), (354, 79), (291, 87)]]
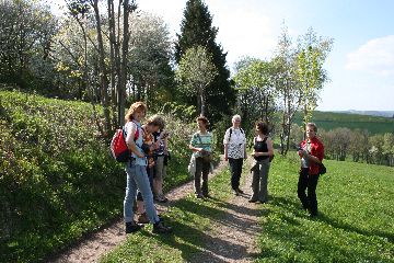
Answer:
[(227, 216), (220, 224), (208, 232), (204, 252), (196, 254), (190, 261), (200, 262), (252, 262), (258, 252), (256, 247), (257, 235), (260, 232), (258, 216), (262, 209), (257, 204), (248, 203), (251, 196), (251, 180), (247, 174), (242, 190), (242, 196), (234, 196), (229, 201)]

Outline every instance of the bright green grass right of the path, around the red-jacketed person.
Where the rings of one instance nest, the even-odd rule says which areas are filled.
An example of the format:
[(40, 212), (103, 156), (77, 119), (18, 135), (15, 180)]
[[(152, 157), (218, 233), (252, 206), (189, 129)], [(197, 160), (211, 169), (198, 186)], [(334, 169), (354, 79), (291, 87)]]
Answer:
[(310, 219), (297, 198), (298, 161), (275, 160), (257, 262), (394, 261), (394, 169), (325, 164), (328, 172), (317, 185), (320, 215)]

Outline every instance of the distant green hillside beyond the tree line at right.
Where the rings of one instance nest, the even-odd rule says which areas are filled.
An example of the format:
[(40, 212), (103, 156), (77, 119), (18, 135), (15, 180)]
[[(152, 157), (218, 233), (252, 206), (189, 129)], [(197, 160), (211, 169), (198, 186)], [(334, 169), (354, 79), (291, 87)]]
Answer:
[[(338, 127), (347, 127), (350, 129), (367, 129), (371, 134), (394, 133), (394, 118), (349, 114), (338, 112), (314, 112), (312, 122), (316, 123), (317, 127), (331, 130)], [(296, 115), (296, 123), (302, 124), (302, 115)]]

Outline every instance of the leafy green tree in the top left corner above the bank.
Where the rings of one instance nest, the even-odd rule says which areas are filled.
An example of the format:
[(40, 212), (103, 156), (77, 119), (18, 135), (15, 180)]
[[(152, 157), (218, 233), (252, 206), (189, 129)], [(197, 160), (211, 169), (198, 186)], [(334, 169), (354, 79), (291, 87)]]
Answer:
[[(38, 1), (0, 1), (0, 82), (40, 91), (50, 85), (48, 59), (57, 20)], [(36, 87), (34, 87), (36, 85)]]

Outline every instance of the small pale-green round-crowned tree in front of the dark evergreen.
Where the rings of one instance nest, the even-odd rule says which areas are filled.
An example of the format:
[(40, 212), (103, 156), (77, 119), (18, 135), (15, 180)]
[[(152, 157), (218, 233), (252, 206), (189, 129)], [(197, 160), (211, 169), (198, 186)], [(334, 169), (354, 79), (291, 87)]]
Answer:
[(207, 114), (206, 89), (217, 73), (209, 54), (201, 46), (187, 49), (176, 70), (176, 79), (185, 93), (197, 95), (197, 106), (202, 116)]

